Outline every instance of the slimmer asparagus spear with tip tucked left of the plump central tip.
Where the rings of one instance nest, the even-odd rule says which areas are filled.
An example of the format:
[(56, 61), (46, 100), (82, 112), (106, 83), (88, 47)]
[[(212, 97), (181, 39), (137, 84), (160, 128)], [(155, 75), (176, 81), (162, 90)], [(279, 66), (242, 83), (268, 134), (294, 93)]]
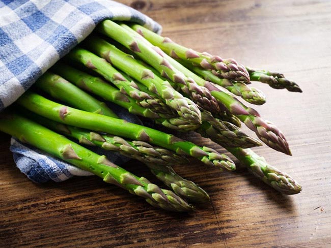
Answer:
[(112, 67), (111, 64), (95, 54), (85, 49), (75, 47), (68, 53), (67, 58), (97, 72), (118, 87), (123, 94), (136, 100), (136, 103), (142, 107), (156, 109), (161, 113), (171, 113), (169, 107), (160, 101), (160, 99), (153, 98), (146, 92), (141, 91), (135, 82), (128, 81), (119, 71)]

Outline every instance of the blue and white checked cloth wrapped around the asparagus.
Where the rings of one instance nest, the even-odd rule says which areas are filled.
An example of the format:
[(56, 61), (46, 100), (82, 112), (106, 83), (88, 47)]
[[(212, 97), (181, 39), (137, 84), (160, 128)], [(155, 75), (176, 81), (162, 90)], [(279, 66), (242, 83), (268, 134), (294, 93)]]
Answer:
[[(154, 32), (161, 30), (149, 17), (111, 0), (0, 0), (0, 111), (104, 19), (132, 21)], [(139, 121), (126, 112), (123, 115)], [(89, 174), (14, 139), (11, 151), (18, 168), (35, 182)], [(114, 163), (125, 161), (114, 153), (107, 155)]]

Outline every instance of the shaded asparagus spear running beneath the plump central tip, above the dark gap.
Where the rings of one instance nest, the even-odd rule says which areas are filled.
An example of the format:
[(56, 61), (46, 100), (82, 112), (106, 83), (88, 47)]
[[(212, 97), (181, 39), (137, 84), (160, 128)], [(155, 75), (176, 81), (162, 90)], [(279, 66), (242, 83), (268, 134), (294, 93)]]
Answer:
[[(59, 75), (63, 76), (65, 79), (75, 84), (81, 89), (92, 92), (93, 94), (103, 98), (106, 101), (113, 102), (126, 108), (130, 113), (145, 116), (147, 118), (154, 119), (157, 123), (163, 125), (164, 127), (175, 129), (175, 130), (195, 130), (199, 127), (197, 123), (191, 123), (185, 118), (180, 116), (170, 116), (168, 114), (162, 114), (156, 111), (156, 109), (147, 108), (136, 104), (136, 102), (129, 96), (123, 95), (118, 89), (109, 85), (101, 78), (91, 76), (85, 72), (76, 70), (70, 66), (57, 63), (51, 68), (52, 71), (57, 72)], [(61, 85), (58, 85), (61, 87)], [(59, 89), (58, 95), (62, 98), (67, 95), (67, 92)], [(69, 96), (70, 97), (70, 96)], [(76, 97), (82, 97), (76, 93)], [(63, 99), (62, 99), (63, 100)], [(83, 105), (72, 105), (78, 109), (89, 111), (88, 109), (82, 109)], [(93, 111), (89, 111), (93, 112)]]

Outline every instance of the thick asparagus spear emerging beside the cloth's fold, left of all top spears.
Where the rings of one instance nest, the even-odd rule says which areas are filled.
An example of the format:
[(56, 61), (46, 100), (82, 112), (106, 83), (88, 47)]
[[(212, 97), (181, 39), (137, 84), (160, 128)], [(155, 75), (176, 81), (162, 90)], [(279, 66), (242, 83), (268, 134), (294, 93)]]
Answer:
[[(132, 37), (125, 28), (111, 20), (101, 22), (98, 26), (98, 30), (102, 34), (121, 43), (126, 48), (129, 48), (132, 52), (159, 71), (161, 75), (175, 82), (182, 92), (193, 99), (195, 103), (203, 109), (209, 111), (219, 110), (217, 101), (210, 95), (207, 88), (199, 86), (194, 80), (187, 78), (180, 71), (171, 66), (167, 59), (164, 59), (151, 47), (146, 46), (139, 36)], [(112, 55), (112, 52), (108, 54), (111, 61)]]

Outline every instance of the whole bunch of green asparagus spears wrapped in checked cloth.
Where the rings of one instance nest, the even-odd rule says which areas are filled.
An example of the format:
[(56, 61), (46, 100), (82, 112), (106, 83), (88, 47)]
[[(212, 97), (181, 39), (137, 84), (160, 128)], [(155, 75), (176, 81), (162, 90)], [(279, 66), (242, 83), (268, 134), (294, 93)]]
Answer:
[[(249, 149), (262, 141), (291, 155), (283, 133), (236, 98), (265, 103), (263, 92), (248, 85), (250, 80), (301, 92), (283, 74), (188, 49), (137, 24), (105, 20), (0, 115), (0, 130), (170, 211), (191, 211), (189, 202), (209, 200), (172, 165), (184, 165), (193, 157), (221, 170), (235, 169), (233, 161), (216, 150), (120, 119), (103, 99), (166, 129), (198, 132), (225, 147), (275, 190), (297, 194), (301, 187), (291, 176)], [(241, 122), (260, 141), (243, 133)], [(143, 162), (172, 191), (133, 175), (88, 146)]]

